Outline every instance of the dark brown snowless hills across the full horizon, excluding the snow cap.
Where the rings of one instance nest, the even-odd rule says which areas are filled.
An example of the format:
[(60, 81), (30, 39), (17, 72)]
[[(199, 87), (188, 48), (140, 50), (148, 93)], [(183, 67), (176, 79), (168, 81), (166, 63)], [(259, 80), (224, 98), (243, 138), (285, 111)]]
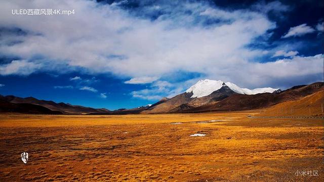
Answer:
[[(294, 86), (282, 92), (263, 93), (256, 95), (242, 95), (233, 92), (228, 86), (223, 86), (209, 96), (201, 98), (191, 98), (192, 93), (183, 93), (171, 99), (163, 100), (153, 104), (152, 106), (143, 106), (134, 109), (119, 109), (109, 111), (107, 109), (94, 109), (83, 106), (73, 106), (65, 103), (55, 103), (53, 101), (38, 100), (33, 97), (20, 98), (15, 96), (3, 97), (0, 95), (0, 112), (19, 112), (19, 113), (47, 113), (47, 114), (138, 114), (138, 113), (193, 113), (193, 112), (210, 112), (210, 111), (241, 111), (268, 108), (280, 103), (289, 103), (291, 101), (301, 100), (323, 91), (323, 82), (316, 82), (309, 85)], [(314, 99), (313, 99), (314, 100)], [(307, 100), (308, 101), (308, 100)], [(298, 112), (306, 107), (301, 103), (296, 108), (301, 108)], [(314, 101), (315, 102), (315, 101)], [(319, 102), (316, 100), (316, 102)], [(277, 107), (277, 106), (276, 106)], [(280, 110), (284, 112), (290, 106), (278, 105)], [(310, 106), (308, 106), (310, 107)], [(315, 106), (314, 106), (315, 107)], [(318, 106), (316, 106), (317, 108)], [(316, 115), (317, 109), (310, 112)], [(312, 109), (311, 109), (312, 111)], [(268, 110), (267, 112), (271, 112)], [(286, 111), (285, 111), (286, 112)], [(297, 112), (297, 110), (296, 110)]]

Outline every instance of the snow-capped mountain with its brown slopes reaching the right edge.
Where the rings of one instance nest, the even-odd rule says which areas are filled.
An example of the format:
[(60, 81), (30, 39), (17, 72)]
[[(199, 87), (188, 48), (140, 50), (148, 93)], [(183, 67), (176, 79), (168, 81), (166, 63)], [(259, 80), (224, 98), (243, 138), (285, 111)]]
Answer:
[[(212, 81), (212, 83), (208, 83), (210, 81), (211, 80), (200, 80), (195, 85), (187, 89), (185, 93), (177, 95), (168, 100), (160, 101), (159, 104), (152, 105), (144, 112), (194, 113), (261, 109), (286, 101), (299, 100), (303, 97), (323, 90), (323, 82), (294, 86), (284, 91), (276, 88), (256, 88), (253, 89), (253, 91), (250, 91), (247, 88), (239, 88), (238, 86), (232, 83), (230, 84), (229, 82), (221, 83), (220, 81)], [(222, 85), (221, 87), (220, 84)], [(213, 89), (210, 89), (207, 93), (206, 90), (208, 89), (205, 89), (205, 87), (201, 85), (208, 85), (208, 89), (210, 88), (210, 85), (215, 85), (216, 90), (207, 95), (211, 92), (210, 90)], [(242, 90), (248, 94), (241, 94)], [(252, 95), (252, 92), (259, 93)]]

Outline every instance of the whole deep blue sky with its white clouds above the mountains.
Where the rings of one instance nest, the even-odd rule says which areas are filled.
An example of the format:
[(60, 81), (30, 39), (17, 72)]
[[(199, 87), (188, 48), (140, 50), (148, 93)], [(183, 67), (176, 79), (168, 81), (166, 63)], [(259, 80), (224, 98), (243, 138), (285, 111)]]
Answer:
[[(13, 15), (15, 9), (74, 15)], [(134, 108), (199, 79), (323, 80), (322, 1), (0, 1), (0, 94)]]

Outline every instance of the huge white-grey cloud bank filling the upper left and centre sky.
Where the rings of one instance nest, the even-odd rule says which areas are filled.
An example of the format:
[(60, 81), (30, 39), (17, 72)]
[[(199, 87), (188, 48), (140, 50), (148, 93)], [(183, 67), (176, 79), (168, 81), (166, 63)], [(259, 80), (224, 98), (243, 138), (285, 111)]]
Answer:
[[(161, 77), (178, 70), (204, 72), (206, 67), (216, 64), (239, 64), (243, 59), (254, 59), (263, 50), (249, 50), (245, 45), (275, 28), (275, 22), (262, 13), (225, 11), (203, 2), (182, 3), (171, 9), (168, 4), (161, 5), (158, 11), (172, 11), (154, 21), (94, 1), (46, 4), (57, 9), (75, 9), (75, 15), (69, 17), (13, 16), (8, 12), (26, 6), (41, 8), (44, 3), (10, 1), (0, 7), (0, 25), (34, 32), (20, 37), (21, 43), (1, 44), (0, 53), (31, 61), (35, 55), (53, 60), (44, 68), (66, 64), (65, 69), (75, 67), (90, 73), (108, 72), (131, 78)], [(195, 17), (209, 9), (215, 14), (209, 18), (221, 23), (209, 28), (195, 24)], [(78, 31), (71, 32), (71, 27)]]

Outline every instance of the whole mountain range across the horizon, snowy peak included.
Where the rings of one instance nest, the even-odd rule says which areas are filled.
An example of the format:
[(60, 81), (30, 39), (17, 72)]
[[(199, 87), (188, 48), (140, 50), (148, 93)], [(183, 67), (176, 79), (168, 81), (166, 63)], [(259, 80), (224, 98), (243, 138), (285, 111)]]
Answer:
[(199, 80), (184, 93), (163, 98), (153, 105), (134, 109), (110, 111), (104, 108), (75, 106), (33, 97), (20, 98), (0, 95), (0, 112), (27, 114), (139, 114), (139, 113), (195, 113), (211, 111), (239, 111), (261, 109), (286, 101), (295, 101), (323, 90), (323, 82), (294, 86), (282, 91), (278, 88), (240, 88), (220, 80)]

